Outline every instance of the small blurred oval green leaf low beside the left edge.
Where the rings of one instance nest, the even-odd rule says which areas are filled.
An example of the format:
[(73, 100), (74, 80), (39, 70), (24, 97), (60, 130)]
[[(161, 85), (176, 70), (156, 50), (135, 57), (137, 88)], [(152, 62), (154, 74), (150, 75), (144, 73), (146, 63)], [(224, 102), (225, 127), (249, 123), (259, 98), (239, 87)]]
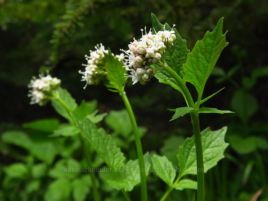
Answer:
[(10, 166), (3, 168), (4, 173), (13, 178), (25, 178), (28, 174), (28, 169), (24, 163), (13, 163)]

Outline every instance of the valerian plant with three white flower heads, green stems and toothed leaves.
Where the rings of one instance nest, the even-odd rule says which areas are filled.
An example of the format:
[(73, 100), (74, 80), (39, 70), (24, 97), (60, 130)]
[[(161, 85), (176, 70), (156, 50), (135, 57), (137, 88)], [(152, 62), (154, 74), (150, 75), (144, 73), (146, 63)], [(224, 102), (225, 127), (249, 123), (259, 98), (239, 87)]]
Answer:
[[(152, 172), (155, 172), (167, 185), (161, 201), (166, 200), (173, 189), (197, 190), (197, 201), (204, 201), (204, 173), (224, 158), (223, 153), (228, 147), (228, 143), (224, 141), (227, 127), (214, 131), (211, 131), (209, 127), (203, 131), (200, 130), (199, 113), (232, 113), (228, 110), (200, 107), (202, 103), (222, 90), (202, 99), (205, 83), (222, 50), (228, 45), (225, 40), (226, 33), (222, 34), (223, 18), (218, 21), (212, 32), (206, 32), (204, 38), (197, 41), (191, 52), (187, 49), (186, 40), (183, 40), (177, 29), (174, 28), (175, 24), (172, 27), (167, 23), (161, 24), (154, 14), (151, 14), (151, 18), (152, 28), (149, 29), (149, 32), (146, 27), (141, 29), (140, 39), (134, 38), (127, 50), (120, 49), (124, 53), (113, 54), (109, 48), (105, 49), (100, 43), (95, 46), (94, 51), (90, 50), (90, 54), (85, 55), (87, 63), (82, 64), (85, 69), (79, 71), (82, 74), (81, 81), (85, 81), (85, 90), (90, 90), (90, 87), (86, 88), (87, 85), (97, 85), (103, 82), (108, 90), (119, 93), (127, 111), (124, 110), (125, 113), (122, 114), (128, 115), (124, 116), (122, 121), (129, 120), (132, 125), (138, 159), (127, 160), (117, 146), (116, 136), (107, 134), (103, 128), (99, 127), (99, 124), (96, 124), (102, 121), (107, 113), (97, 115), (97, 111), (91, 110), (92, 105), (84, 100), (78, 106), (68, 91), (60, 88), (61, 81), (59, 79), (52, 78), (49, 74), (46, 77), (40, 75), (40, 79), (34, 78), (29, 84), (29, 88), (32, 88), (29, 95), (32, 96), (31, 103), (43, 106), (51, 100), (57, 113), (69, 122), (55, 130), (52, 137), (78, 136), (88, 167), (95, 167), (96, 162), (93, 161), (92, 155), (97, 154), (107, 168), (112, 170), (105, 178), (105, 182), (120, 190), (127, 201), (131, 200), (129, 192), (138, 184), (141, 188), (140, 199), (148, 200), (147, 176)], [(183, 95), (186, 105), (168, 109), (174, 112), (170, 121), (190, 114), (194, 135), (187, 138), (178, 148), (179, 151), (174, 154), (177, 156), (177, 169), (165, 155), (151, 155), (143, 152), (141, 129), (137, 126), (135, 115), (125, 92), (128, 77), (132, 79), (133, 84), (139, 82), (142, 85), (149, 83), (152, 77), (156, 77), (159, 82), (171, 85)], [(187, 82), (194, 85), (197, 91), (196, 101), (186, 86)], [(110, 115), (113, 116), (115, 113)], [(115, 117), (117, 118), (116, 115)], [(120, 125), (119, 119), (114, 121), (117, 122), (115, 124), (109, 123), (111, 122), (110, 117), (106, 120), (112, 128)], [(123, 125), (120, 126), (124, 130)], [(129, 136), (127, 133), (131, 133), (131, 131), (121, 133)], [(135, 171), (130, 171), (133, 169)], [(95, 201), (102, 200), (98, 175), (95, 172), (88, 174), (93, 199)], [(189, 175), (197, 175), (197, 181)], [(83, 188), (86, 191), (86, 187), (83, 186)], [(85, 196), (81, 200), (85, 200)]]

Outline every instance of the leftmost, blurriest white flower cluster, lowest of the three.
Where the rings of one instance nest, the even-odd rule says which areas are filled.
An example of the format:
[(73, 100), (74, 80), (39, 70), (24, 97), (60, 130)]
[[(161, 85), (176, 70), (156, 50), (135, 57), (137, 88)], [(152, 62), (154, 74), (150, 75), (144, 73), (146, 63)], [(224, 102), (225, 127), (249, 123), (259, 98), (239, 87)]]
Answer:
[(60, 86), (61, 80), (57, 77), (52, 78), (49, 74), (46, 77), (43, 77), (43, 75), (39, 75), (39, 77), (39, 79), (32, 77), (33, 79), (28, 85), (28, 88), (32, 88), (32, 90), (29, 90), (30, 94), (28, 96), (32, 97), (30, 104), (38, 103), (43, 106), (50, 100), (52, 90)]

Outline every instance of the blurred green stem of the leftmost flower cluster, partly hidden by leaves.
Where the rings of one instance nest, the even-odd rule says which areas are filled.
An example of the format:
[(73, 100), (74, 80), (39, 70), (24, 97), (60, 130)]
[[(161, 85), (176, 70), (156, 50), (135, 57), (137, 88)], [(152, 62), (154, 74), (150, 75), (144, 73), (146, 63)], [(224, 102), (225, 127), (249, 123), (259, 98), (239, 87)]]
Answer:
[[(74, 118), (70, 114), (71, 113), (71, 110), (66, 105), (66, 103), (60, 97), (58, 97), (58, 96), (56, 97), (56, 99), (60, 102), (60, 104), (68, 112), (71, 123), (74, 126), (77, 126)], [(79, 133), (79, 139), (80, 139), (82, 151), (83, 151), (83, 154), (84, 154), (84, 156), (86, 158), (86, 161), (88, 163), (88, 166), (89, 166), (89, 168), (92, 168), (92, 166), (91, 166), (91, 154), (90, 154), (89, 150), (85, 146), (85, 142), (84, 142), (84, 139), (83, 139), (83, 136), (82, 136), (81, 133)], [(92, 183), (93, 199), (94, 199), (94, 201), (100, 201), (100, 196), (99, 196), (99, 192), (98, 192), (97, 185), (96, 185), (96, 177), (95, 177), (95, 174), (94, 174), (94, 172), (89, 172), (89, 175), (90, 175), (91, 183)]]

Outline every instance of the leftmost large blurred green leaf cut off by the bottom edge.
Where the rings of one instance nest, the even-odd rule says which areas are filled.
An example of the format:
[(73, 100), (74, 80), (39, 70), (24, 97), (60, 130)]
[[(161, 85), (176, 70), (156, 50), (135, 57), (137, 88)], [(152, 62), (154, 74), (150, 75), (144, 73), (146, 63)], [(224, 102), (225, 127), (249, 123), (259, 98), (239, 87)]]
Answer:
[(65, 179), (55, 180), (49, 184), (44, 195), (45, 201), (68, 200), (72, 190), (72, 183)]

